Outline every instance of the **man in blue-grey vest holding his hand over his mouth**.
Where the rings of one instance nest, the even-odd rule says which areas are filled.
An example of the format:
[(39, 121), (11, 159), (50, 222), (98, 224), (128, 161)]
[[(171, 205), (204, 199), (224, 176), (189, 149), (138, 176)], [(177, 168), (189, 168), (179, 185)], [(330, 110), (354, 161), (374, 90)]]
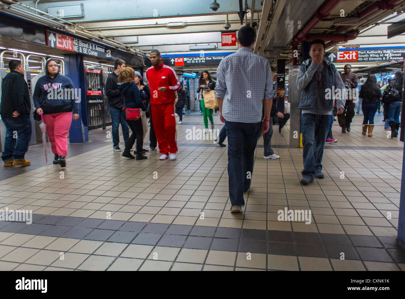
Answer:
[[(326, 96), (335, 90), (344, 88), (343, 81), (336, 67), (323, 59), (325, 42), (317, 39), (312, 42), (309, 56), (298, 69), (297, 88), (301, 90), (301, 132), (303, 135), (303, 177), (300, 182), (307, 185), (314, 177), (323, 179), (322, 156), (324, 154), (326, 135), (328, 134), (330, 115), (337, 95)], [(337, 100), (337, 114), (343, 113), (346, 94), (340, 93)], [(327, 99), (328, 98), (328, 99)]]

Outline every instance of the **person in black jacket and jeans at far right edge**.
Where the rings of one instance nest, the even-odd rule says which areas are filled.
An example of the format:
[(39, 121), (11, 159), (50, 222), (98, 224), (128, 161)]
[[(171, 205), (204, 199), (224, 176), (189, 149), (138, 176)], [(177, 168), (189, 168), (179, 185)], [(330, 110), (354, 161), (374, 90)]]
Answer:
[(384, 103), (388, 105), (388, 122), (391, 127), (391, 138), (398, 137), (398, 130), (401, 125), (399, 114), (401, 113), (402, 82), (403, 73), (398, 71), (395, 73), (394, 80), (390, 82), (383, 94)]

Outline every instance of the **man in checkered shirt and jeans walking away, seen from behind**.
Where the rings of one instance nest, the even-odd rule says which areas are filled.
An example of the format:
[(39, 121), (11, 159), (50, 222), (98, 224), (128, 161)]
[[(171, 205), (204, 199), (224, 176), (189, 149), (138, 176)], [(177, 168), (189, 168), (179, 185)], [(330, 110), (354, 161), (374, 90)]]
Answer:
[(269, 61), (252, 52), (254, 42), (254, 29), (243, 26), (238, 32), (238, 51), (224, 58), (217, 69), (215, 96), (228, 136), (232, 213), (241, 212), (245, 205), (243, 193), (250, 188), (254, 150), (260, 133), (269, 130), (272, 99), (276, 95)]

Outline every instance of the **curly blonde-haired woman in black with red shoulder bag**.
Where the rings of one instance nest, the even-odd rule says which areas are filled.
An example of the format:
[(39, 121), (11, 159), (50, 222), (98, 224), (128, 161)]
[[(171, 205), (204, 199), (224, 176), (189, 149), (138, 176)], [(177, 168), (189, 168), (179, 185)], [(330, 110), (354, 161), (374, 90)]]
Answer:
[[(142, 111), (146, 111), (146, 107), (141, 100), (141, 94), (138, 86), (133, 82), (135, 79), (135, 71), (133, 68), (126, 67), (124, 68), (118, 76), (118, 82), (124, 82), (118, 87), (118, 90), (124, 96), (124, 107), (125, 108), (138, 108)], [(125, 113), (125, 110), (123, 111)], [(130, 150), (134, 145), (136, 139), (136, 160), (147, 159), (146, 156), (142, 154), (142, 145), (143, 145), (143, 129), (142, 129), (142, 120), (139, 117), (139, 120), (126, 120), (128, 126), (130, 127), (132, 134), (128, 138), (128, 141), (125, 145), (125, 150), (122, 153), (123, 157), (134, 159), (135, 157), (131, 155)]]

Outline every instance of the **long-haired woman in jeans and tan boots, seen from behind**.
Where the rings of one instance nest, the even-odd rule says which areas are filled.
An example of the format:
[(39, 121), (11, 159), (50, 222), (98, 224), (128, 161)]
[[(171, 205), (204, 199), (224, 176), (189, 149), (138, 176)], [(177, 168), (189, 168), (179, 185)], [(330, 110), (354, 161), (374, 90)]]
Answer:
[(366, 135), (368, 128), (368, 136), (371, 137), (373, 136), (374, 129), (374, 115), (375, 112), (377, 112), (379, 100), (381, 98), (381, 92), (377, 85), (377, 78), (375, 75), (370, 75), (367, 78), (366, 83), (361, 86), (359, 97), (363, 99), (361, 107), (364, 115), (362, 134)]

